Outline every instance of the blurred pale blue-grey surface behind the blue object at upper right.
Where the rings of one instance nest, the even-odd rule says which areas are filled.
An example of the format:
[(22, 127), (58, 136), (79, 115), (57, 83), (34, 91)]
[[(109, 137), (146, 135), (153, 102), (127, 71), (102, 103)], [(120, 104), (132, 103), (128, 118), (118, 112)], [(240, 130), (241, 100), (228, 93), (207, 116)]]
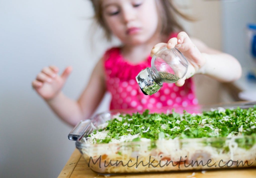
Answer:
[(236, 57), (244, 68), (256, 68), (246, 48), (248, 23), (256, 24), (256, 0), (221, 1), (222, 49)]

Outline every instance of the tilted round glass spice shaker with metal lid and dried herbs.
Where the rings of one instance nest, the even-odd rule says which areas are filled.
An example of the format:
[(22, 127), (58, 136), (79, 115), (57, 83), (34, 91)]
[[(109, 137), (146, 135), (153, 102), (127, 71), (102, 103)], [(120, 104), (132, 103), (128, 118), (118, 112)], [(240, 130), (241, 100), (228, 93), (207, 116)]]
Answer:
[(182, 79), (188, 70), (188, 61), (176, 49), (159, 49), (151, 59), (151, 68), (143, 69), (136, 76), (142, 92), (152, 95), (160, 90), (163, 83), (175, 83)]

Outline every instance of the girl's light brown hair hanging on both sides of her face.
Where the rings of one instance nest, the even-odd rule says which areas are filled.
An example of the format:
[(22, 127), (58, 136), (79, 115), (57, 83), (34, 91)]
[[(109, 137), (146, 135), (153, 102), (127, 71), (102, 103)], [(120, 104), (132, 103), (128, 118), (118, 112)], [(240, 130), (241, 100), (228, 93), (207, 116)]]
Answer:
[[(105, 37), (110, 41), (111, 40), (111, 31), (108, 26), (105, 24), (103, 15), (102, 15), (102, 0), (90, 0), (94, 9), (94, 19), (96, 22), (103, 28), (105, 32)], [(173, 4), (172, 0), (155, 0), (157, 11), (159, 14), (159, 25), (161, 25), (161, 33), (163, 35), (169, 36), (170, 33), (175, 31), (184, 31), (183, 27), (178, 23), (175, 15), (179, 15), (186, 20), (193, 20), (189, 16), (181, 13)]]

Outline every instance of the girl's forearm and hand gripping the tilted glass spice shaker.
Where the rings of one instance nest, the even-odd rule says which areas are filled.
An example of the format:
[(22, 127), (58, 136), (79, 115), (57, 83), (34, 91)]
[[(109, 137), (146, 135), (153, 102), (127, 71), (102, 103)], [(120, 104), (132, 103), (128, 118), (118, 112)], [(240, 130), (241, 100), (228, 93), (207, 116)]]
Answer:
[(177, 38), (171, 38), (168, 43), (156, 44), (151, 50), (151, 56), (164, 46), (177, 48), (189, 63), (188, 72), (176, 82), (177, 86), (182, 86), (185, 79), (194, 74), (205, 74), (220, 82), (231, 82), (241, 76), (241, 65), (236, 58), (211, 49), (200, 40), (191, 40), (185, 32), (180, 32)]

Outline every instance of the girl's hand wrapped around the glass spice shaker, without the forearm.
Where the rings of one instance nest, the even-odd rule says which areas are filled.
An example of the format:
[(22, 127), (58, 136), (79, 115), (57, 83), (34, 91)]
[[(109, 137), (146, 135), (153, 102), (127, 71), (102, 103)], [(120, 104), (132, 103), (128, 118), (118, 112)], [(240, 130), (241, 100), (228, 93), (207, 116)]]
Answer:
[(175, 83), (177, 86), (182, 86), (186, 79), (193, 76), (205, 64), (205, 58), (190, 40), (186, 32), (180, 32), (177, 38), (171, 38), (168, 43), (156, 44), (151, 50), (151, 56), (163, 47), (167, 47), (168, 49), (177, 48), (188, 60), (188, 71), (182, 79)]

